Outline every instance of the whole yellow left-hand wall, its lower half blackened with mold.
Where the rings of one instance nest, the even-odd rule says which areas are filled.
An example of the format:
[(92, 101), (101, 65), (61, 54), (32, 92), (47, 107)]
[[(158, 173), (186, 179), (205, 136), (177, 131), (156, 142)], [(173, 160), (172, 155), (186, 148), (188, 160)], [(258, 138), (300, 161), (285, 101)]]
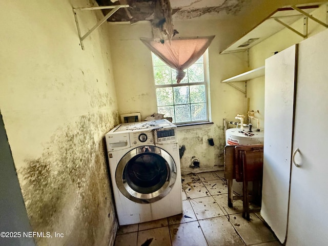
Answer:
[[(0, 9), (0, 108), (32, 230), (52, 236), (35, 237), (38, 245), (107, 246), (117, 230), (104, 144), (118, 123), (110, 33), (100, 27), (82, 50), (72, 11), (90, 6), (33, 0)], [(81, 32), (101, 17), (79, 13)]]

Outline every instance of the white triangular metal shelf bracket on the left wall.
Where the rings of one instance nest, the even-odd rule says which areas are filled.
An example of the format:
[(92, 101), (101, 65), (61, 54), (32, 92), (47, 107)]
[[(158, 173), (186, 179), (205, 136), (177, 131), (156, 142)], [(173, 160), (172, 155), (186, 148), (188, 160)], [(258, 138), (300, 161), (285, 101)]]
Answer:
[[(112, 16), (120, 8), (128, 8), (128, 7), (129, 7), (129, 5), (113, 5), (113, 6), (100, 6), (100, 7), (90, 7), (90, 8), (73, 8), (74, 18), (75, 18), (75, 22), (76, 22), (78, 37), (80, 39), (81, 48), (84, 50), (83, 40), (86, 37), (88, 37), (94, 30), (96, 30), (98, 27), (100, 27), (101, 24), (106, 22), (106, 20), (110, 16)], [(79, 27), (79, 24), (78, 24), (77, 12), (78, 11), (85, 11), (85, 10), (99, 10), (99, 9), (112, 9), (112, 11), (110, 11), (108, 14), (106, 14), (104, 16), (104, 18), (100, 19), (99, 22), (96, 25), (94, 25), (86, 34), (84, 34), (82, 36), (81, 35), (81, 30), (80, 30), (80, 27)]]

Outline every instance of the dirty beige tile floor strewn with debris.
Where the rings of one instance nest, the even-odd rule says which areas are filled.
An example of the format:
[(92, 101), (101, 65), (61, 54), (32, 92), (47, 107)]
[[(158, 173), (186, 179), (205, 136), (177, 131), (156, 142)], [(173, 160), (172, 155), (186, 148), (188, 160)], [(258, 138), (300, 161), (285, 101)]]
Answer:
[(223, 171), (182, 175), (183, 214), (120, 227), (115, 246), (282, 245), (259, 213), (242, 218), (242, 201), (228, 208)]

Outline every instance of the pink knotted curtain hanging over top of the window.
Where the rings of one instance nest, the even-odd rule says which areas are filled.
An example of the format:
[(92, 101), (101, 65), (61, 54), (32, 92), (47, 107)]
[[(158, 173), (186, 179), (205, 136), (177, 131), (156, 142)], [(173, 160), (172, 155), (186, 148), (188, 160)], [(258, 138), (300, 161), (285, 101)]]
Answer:
[(215, 36), (208, 37), (181, 37), (172, 39), (171, 44), (164, 44), (152, 38), (140, 38), (140, 40), (169, 67), (177, 70), (177, 83), (185, 77), (183, 70), (189, 68), (210, 46)]

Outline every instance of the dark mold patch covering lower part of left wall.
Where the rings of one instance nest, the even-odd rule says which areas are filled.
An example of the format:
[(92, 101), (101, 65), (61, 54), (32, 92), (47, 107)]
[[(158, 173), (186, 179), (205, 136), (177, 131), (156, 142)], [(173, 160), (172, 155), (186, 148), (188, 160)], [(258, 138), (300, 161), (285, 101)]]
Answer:
[(103, 136), (117, 112), (77, 118), (53, 134), (42, 156), (18, 170), (35, 232), (63, 233), (36, 238), (38, 245), (108, 245), (117, 229)]

